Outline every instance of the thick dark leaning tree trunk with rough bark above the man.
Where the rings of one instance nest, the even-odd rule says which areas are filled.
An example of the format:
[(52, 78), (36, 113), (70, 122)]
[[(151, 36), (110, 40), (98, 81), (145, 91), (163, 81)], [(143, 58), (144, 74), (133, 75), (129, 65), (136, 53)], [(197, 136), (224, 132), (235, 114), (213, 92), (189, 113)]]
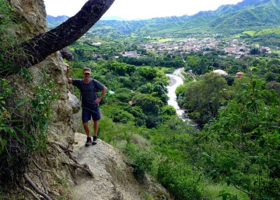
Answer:
[(59, 26), (23, 42), (20, 47), (26, 53), (27, 60), (22, 64), (30, 67), (73, 43), (101, 18), (113, 2), (114, 0), (88, 0), (80, 11)]

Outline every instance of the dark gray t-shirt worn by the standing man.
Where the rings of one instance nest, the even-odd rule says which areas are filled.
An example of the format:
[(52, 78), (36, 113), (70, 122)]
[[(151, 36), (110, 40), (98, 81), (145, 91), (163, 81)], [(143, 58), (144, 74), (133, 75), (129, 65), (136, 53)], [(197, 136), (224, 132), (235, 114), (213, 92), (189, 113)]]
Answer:
[(84, 83), (83, 79), (72, 79), (73, 85), (76, 86), (81, 93), (81, 107), (93, 108), (96, 106), (94, 100), (97, 98), (97, 91), (102, 90), (102, 85), (97, 80), (90, 78), (89, 83)]

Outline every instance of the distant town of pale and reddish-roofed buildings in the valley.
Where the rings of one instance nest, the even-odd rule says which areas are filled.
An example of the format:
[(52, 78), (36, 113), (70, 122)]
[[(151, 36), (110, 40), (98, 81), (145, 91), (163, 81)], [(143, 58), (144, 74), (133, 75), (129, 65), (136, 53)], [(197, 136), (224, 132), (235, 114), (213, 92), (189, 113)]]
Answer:
[[(157, 55), (163, 55), (163, 52), (168, 54), (189, 54), (190, 52), (203, 51), (203, 54), (210, 53), (211, 50), (223, 52), (220, 57), (235, 56), (248, 56), (251, 48), (257, 48), (261, 53), (271, 53), (271, 49), (266, 46), (259, 45), (246, 45), (243, 41), (237, 38), (229, 38), (221, 40), (217, 38), (216, 34), (204, 34), (203, 36), (189, 36), (187, 38), (170, 38), (158, 39), (149, 43), (140, 43), (140, 48), (146, 51), (156, 52)], [(128, 51), (122, 54), (128, 57), (139, 57), (141, 55), (135, 51)]]

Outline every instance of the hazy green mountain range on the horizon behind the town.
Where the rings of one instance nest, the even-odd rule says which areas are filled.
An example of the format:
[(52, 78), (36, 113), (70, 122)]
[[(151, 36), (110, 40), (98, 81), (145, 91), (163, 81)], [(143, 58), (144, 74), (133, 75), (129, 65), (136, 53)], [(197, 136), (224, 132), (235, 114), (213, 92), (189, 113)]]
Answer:
[[(59, 18), (60, 19), (60, 18)], [(48, 20), (49, 27), (53, 21)], [(103, 34), (221, 33), (277, 28), (280, 26), (279, 0), (243, 0), (221, 5), (216, 10), (188, 16), (155, 17), (146, 20), (99, 20), (90, 31)], [(52, 26), (53, 27), (53, 26)]]

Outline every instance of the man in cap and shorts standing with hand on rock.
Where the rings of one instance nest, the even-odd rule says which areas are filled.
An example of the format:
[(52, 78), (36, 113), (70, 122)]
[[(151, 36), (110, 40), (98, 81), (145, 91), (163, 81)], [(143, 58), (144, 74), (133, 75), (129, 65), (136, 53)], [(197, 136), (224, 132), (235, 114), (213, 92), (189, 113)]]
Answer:
[[(72, 83), (76, 86), (81, 93), (81, 120), (83, 129), (86, 133), (86, 142), (85, 146), (89, 146), (90, 143), (97, 143), (97, 131), (98, 131), (98, 120), (101, 118), (99, 112), (99, 102), (103, 98), (106, 93), (107, 88), (102, 85), (97, 80), (90, 78), (91, 69), (88, 67), (83, 68), (83, 79), (72, 79), (69, 77), (69, 65), (65, 63), (66, 69), (66, 78), (69, 83)], [(101, 94), (98, 97), (96, 91), (101, 90)], [(93, 119), (93, 141), (91, 140), (91, 136), (89, 134), (89, 127), (87, 122)]]

